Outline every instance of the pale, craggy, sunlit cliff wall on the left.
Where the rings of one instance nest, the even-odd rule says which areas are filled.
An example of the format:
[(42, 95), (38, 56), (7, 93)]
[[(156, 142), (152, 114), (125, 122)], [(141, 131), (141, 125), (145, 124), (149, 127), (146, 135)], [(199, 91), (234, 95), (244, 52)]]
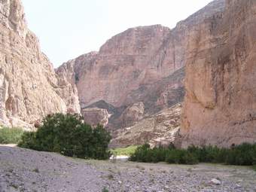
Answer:
[(57, 78), (24, 15), (20, 0), (0, 1), (0, 123), (8, 126), (32, 126), (78, 99), (69, 82)]

